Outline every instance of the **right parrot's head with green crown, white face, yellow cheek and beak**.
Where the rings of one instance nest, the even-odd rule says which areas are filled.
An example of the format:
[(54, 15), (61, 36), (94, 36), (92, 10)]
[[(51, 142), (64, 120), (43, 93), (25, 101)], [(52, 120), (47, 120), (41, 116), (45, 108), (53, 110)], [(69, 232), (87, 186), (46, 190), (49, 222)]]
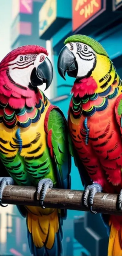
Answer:
[(64, 44), (58, 57), (58, 72), (61, 77), (65, 79), (66, 72), (68, 76), (77, 79), (94, 75), (95, 79), (101, 80), (107, 75), (111, 65), (109, 56), (102, 45), (93, 38), (72, 35)]

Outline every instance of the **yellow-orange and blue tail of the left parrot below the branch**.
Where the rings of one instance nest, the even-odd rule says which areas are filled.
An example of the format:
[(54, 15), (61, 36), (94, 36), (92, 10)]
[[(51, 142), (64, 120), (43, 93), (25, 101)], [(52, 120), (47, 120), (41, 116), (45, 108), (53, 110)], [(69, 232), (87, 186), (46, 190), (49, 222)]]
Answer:
[(28, 212), (28, 243), (34, 256), (60, 256), (62, 250), (62, 225), (58, 210), (49, 215)]

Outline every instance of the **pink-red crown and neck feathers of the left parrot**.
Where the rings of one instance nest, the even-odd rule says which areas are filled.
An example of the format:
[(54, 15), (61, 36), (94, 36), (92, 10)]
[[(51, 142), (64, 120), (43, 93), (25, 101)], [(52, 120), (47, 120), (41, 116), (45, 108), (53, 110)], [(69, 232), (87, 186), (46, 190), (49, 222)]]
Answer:
[(22, 108), (25, 104), (28, 107), (35, 106), (39, 100), (39, 93), (35, 94), (33, 90), (29, 88), (18, 88), (9, 80), (6, 71), (8, 69), (8, 63), (16, 59), (18, 55), (26, 54), (39, 54), (48, 52), (45, 48), (38, 45), (25, 45), (18, 47), (17, 49), (9, 52), (0, 63), (0, 102), (3, 104), (9, 104), (12, 108)]

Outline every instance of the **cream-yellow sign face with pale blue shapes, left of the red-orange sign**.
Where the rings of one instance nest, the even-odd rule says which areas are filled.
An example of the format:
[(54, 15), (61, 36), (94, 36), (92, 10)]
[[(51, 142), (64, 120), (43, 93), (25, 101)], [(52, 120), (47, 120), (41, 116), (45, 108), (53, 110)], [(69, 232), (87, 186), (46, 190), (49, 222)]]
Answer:
[(46, 0), (39, 12), (39, 36), (56, 20), (57, 0)]

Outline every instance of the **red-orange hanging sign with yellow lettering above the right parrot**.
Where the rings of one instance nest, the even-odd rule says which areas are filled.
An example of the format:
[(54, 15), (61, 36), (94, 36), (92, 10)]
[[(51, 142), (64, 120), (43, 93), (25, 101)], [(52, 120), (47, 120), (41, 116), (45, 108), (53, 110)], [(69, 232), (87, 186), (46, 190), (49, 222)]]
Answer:
[(73, 31), (87, 25), (106, 9), (106, 0), (72, 0)]

